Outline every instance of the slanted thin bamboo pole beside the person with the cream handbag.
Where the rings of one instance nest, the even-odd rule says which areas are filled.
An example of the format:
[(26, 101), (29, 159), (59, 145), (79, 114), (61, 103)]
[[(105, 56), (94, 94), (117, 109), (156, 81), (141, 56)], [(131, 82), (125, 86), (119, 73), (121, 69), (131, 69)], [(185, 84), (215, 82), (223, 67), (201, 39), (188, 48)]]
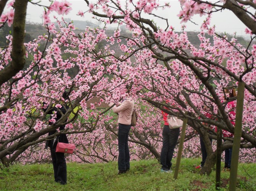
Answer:
[[(185, 114), (188, 112), (186, 111)], [(178, 155), (177, 155), (177, 161), (176, 161), (176, 166), (175, 166), (175, 171), (173, 178), (176, 180), (178, 178), (178, 171), (180, 168), (180, 160), (181, 160), (181, 155), (182, 155), (182, 150), (183, 150), (183, 143), (185, 139), (185, 134), (186, 134), (186, 126), (187, 126), (188, 119), (184, 118), (183, 119), (183, 124), (182, 124), (182, 129), (181, 129), (181, 135), (180, 135), (180, 144), (179, 144), (179, 150), (178, 150)]]

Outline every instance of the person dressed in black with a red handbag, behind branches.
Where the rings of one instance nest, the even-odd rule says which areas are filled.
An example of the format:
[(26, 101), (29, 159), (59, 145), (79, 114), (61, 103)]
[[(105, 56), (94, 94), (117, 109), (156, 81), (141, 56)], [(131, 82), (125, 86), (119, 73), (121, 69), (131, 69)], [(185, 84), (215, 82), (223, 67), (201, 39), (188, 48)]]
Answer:
[[(62, 94), (62, 97), (64, 99), (67, 99), (68, 92), (65, 91)], [(44, 109), (44, 112), (47, 111), (47, 108)], [(56, 116), (55, 120), (58, 121), (62, 117), (62, 115), (65, 115), (68, 108), (69, 107), (67, 105), (62, 105), (61, 108), (52, 107), (47, 111), (47, 114), (52, 114), (53, 111), (56, 111), (57, 116)], [(49, 122), (49, 125), (52, 125), (52, 124), (53, 124), (52, 122)], [(65, 126), (60, 126), (59, 127), (60, 131), (63, 131), (64, 127)], [(57, 130), (51, 131), (51, 132), (49, 132), (49, 135), (53, 135), (56, 132), (57, 132)], [(66, 134), (60, 134), (57, 137), (55, 137), (54, 139), (47, 140), (45, 148), (47, 149), (48, 147), (50, 147), (55, 182), (58, 182), (62, 185), (65, 185), (66, 184), (66, 177), (67, 177), (66, 176), (66, 160), (65, 160), (64, 153), (56, 153), (55, 152), (57, 142), (68, 143), (68, 138), (66, 137)]]

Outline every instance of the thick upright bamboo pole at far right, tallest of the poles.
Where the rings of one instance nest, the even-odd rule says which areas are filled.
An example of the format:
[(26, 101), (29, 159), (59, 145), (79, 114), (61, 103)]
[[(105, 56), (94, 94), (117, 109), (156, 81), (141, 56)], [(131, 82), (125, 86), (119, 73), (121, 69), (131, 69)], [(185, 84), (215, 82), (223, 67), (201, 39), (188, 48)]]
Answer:
[(237, 107), (236, 107), (236, 117), (235, 117), (235, 133), (234, 133), (234, 142), (232, 148), (232, 158), (230, 166), (230, 181), (229, 181), (229, 190), (234, 191), (237, 185), (237, 167), (238, 167), (238, 158), (241, 142), (241, 132), (242, 132), (242, 119), (243, 119), (243, 100), (245, 92), (245, 83), (238, 82), (237, 89)]

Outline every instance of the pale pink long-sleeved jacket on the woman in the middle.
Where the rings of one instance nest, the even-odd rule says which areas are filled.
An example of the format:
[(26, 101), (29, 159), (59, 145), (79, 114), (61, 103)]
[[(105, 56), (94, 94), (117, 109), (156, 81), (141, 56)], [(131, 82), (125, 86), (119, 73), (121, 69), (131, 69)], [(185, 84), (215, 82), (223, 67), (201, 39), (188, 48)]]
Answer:
[[(109, 106), (112, 106), (110, 103)], [(126, 97), (126, 99), (121, 103), (120, 106), (112, 107), (114, 113), (119, 113), (118, 123), (130, 125), (131, 124), (131, 114), (133, 113), (134, 100), (131, 97)]]

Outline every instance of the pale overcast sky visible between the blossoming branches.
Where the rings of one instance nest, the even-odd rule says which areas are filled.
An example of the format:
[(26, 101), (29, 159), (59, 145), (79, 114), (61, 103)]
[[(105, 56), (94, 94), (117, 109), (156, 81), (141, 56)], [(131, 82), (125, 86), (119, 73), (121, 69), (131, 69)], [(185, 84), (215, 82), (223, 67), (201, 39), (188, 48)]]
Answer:
[[(91, 14), (85, 14), (84, 18), (77, 16), (79, 10), (87, 11), (87, 6), (84, 0), (67, 0), (68, 2), (72, 3), (72, 11), (68, 15), (64, 15), (64, 18), (70, 18), (72, 20), (81, 20), (81, 21), (91, 21), (96, 23), (97, 21), (92, 19)], [(122, 1), (122, 0), (121, 0)], [(41, 0), (42, 4), (49, 5), (49, 0)], [(93, 2), (93, 1), (91, 1)], [(94, 1), (96, 2), (96, 1)], [(181, 10), (180, 3), (178, 0), (159, 0), (159, 3), (170, 2), (171, 7), (166, 8), (165, 10), (159, 9), (156, 14), (168, 18), (169, 25), (172, 25), (175, 28), (175, 31), (181, 30), (180, 19), (177, 17), (177, 14)], [(34, 6), (31, 3), (28, 5), (28, 15), (27, 21), (42, 23), (42, 19), (40, 18), (42, 14), (43, 8), (39, 6)], [(55, 13), (54, 13), (55, 14)], [(53, 15), (53, 14), (52, 14)], [(58, 18), (61, 16), (55, 14)], [(152, 19), (152, 18), (149, 18)], [(187, 29), (186, 31), (199, 31), (200, 24), (203, 22), (204, 17), (200, 18), (198, 15), (193, 17), (193, 22), (199, 24), (195, 25), (192, 22), (187, 22)], [(159, 26), (166, 25), (160, 19), (154, 18), (154, 21), (157, 22)], [(212, 15), (212, 22), (211, 24), (215, 24), (217, 32), (227, 32), (227, 33), (234, 33), (237, 32), (237, 35), (242, 35), (243, 37), (248, 38), (248, 35), (245, 35), (245, 25), (237, 19), (237, 17), (231, 13), (231, 11), (224, 10), (222, 12), (214, 13)]]

